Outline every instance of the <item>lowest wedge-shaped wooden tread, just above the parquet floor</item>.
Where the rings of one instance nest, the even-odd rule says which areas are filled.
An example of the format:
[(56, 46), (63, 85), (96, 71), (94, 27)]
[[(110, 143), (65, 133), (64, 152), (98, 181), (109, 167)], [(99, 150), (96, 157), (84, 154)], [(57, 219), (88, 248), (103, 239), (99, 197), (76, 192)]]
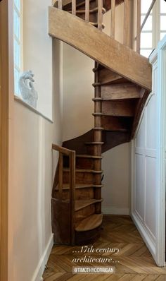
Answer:
[(75, 231), (77, 232), (85, 232), (91, 229), (95, 229), (102, 224), (103, 221), (103, 214), (94, 214), (86, 217), (86, 219), (79, 222), (76, 227)]

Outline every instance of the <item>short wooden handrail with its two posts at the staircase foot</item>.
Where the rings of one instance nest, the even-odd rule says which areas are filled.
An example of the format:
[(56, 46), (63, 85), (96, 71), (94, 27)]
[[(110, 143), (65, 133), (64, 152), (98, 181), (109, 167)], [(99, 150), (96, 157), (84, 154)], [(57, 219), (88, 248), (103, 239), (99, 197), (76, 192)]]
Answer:
[(75, 150), (69, 150), (62, 146), (53, 144), (52, 149), (58, 151), (58, 192), (59, 200), (63, 201), (63, 156), (69, 157), (69, 192), (70, 192), (70, 222), (71, 222), (71, 244), (75, 242)]

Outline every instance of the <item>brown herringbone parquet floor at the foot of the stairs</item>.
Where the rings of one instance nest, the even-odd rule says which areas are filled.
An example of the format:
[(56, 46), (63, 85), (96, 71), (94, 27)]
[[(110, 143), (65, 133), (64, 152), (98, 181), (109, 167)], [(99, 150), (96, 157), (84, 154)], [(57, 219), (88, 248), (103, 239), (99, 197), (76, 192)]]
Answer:
[[(93, 244), (92, 249), (94, 252), (89, 250), (87, 253), (80, 253), (81, 246), (53, 246), (44, 271), (44, 281), (166, 281), (166, 268), (158, 268), (155, 265), (151, 253), (129, 216), (105, 216), (101, 238)], [(96, 249), (101, 249), (97, 250), (101, 253), (96, 253)], [(120, 250), (117, 252), (118, 250), (113, 249)], [(86, 251), (86, 248), (83, 251)], [(103, 261), (106, 262), (73, 261), (73, 258), (84, 256), (105, 258)], [(73, 275), (73, 266), (115, 266), (115, 273)]]

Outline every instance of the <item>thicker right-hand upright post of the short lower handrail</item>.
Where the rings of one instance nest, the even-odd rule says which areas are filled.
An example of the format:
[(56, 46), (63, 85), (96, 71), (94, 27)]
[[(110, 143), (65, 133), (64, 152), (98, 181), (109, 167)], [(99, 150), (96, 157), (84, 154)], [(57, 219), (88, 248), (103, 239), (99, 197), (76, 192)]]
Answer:
[(75, 151), (70, 154), (71, 243), (75, 244)]

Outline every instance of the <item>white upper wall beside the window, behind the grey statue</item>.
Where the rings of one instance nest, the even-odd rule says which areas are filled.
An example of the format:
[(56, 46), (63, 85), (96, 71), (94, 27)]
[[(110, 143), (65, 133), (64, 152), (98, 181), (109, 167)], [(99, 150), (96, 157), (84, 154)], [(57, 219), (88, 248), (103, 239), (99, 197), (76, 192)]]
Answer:
[(23, 68), (34, 73), (38, 92), (37, 109), (52, 119), (52, 54), (48, 35), (48, 6), (51, 0), (23, 1)]

